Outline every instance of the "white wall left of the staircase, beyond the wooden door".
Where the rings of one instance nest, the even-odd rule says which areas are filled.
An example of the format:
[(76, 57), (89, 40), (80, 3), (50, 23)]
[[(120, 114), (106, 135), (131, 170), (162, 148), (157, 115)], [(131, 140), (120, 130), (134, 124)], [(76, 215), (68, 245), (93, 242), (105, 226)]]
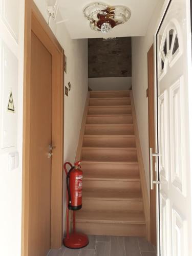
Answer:
[[(34, 1), (48, 22), (45, 0)], [(67, 56), (67, 74), (65, 86), (71, 82), (69, 96), (65, 95), (65, 125), (64, 125), (64, 162), (74, 163), (79, 133), (81, 128), (84, 104), (88, 93), (88, 40), (71, 39), (65, 23), (55, 24), (50, 18), (50, 27), (57, 37)], [(64, 175), (64, 205), (63, 217), (66, 216), (66, 179)], [(63, 221), (65, 225), (65, 221)]]

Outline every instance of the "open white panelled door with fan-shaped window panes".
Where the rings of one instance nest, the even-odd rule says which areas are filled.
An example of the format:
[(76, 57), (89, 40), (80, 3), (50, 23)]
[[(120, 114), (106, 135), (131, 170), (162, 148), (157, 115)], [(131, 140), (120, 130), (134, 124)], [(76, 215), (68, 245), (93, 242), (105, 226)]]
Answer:
[[(188, 87), (190, 2), (172, 0), (157, 33), (157, 166), (161, 256), (191, 256)], [(191, 132), (191, 131), (190, 131)], [(158, 189), (157, 189), (158, 190)]]

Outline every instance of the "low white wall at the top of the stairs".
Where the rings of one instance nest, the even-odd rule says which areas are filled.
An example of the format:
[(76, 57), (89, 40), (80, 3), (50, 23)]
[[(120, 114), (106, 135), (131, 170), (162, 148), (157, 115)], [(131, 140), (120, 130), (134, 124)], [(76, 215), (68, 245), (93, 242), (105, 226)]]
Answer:
[(89, 78), (89, 87), (93, 91), (122, 91), (130, 90), (132, 86), (131, 77), (96, 77)]

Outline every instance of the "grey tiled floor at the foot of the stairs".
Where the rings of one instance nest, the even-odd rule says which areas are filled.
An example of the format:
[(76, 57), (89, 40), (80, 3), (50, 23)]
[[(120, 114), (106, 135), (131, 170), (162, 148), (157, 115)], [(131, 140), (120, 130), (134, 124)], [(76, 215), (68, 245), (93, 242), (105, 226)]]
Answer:
[(47, 256), (156, 256), (155, 247), (145, 238), (89, 236), (89, 241), (83, 249), (62, 247)]

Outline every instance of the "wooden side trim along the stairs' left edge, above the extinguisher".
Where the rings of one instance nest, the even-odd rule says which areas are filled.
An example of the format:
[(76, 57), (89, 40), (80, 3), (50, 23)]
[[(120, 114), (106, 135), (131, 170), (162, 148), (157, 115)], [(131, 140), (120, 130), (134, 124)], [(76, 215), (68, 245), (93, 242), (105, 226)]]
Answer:
[(82, 116), (81, 130), (79, 134), (79, 142), (77, 146), (75, 161), (81, 160), (82, 142), (83, 142), (84, 130), (86, 128), (86, 118), (88, 113), (89, 99), (90, 99), (90, 92), (88, 91), (86, 103), (84, 104), (84, 112)]

